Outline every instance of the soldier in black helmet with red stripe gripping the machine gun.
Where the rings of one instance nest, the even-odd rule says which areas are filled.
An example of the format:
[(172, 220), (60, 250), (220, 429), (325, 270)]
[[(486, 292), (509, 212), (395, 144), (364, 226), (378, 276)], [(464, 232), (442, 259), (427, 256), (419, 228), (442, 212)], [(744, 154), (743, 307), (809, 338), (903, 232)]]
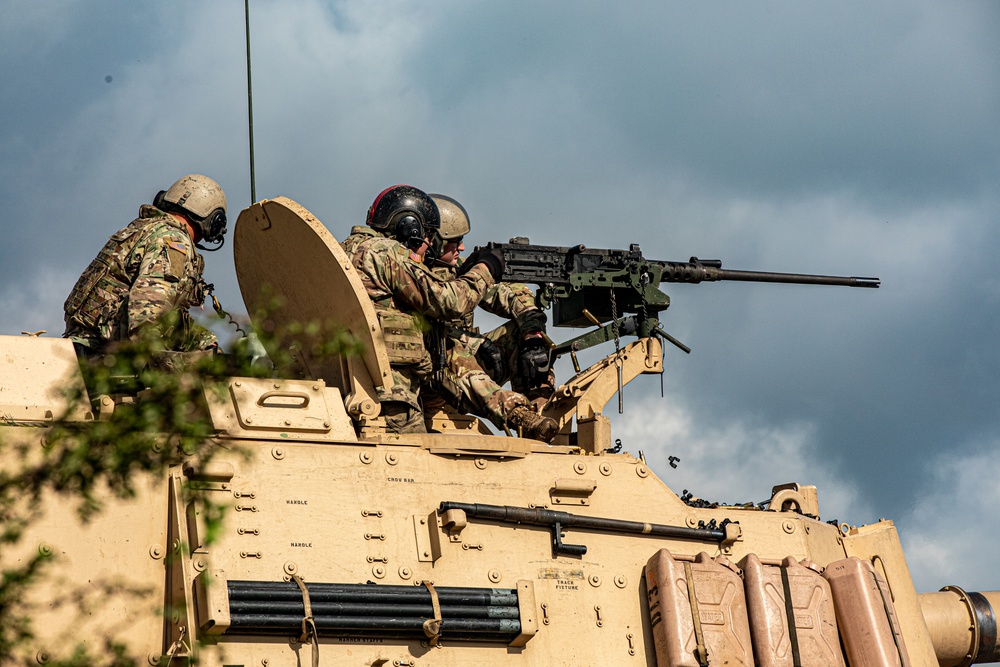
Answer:
[(438, 208), (409, 185), (379, 193), (366, 222), (351, 228), (343, 246), (375, 306), (389, 355), (394, 386), (378, 392), (382, 415), (392, 432), (425, 432), (419, 395), (433, 373), (424, 345), (428, 320), (471, 312), (503, 273), (503, 256), (470, 259), (461, 277), (435, 276), (424, 260), (441, 251)]

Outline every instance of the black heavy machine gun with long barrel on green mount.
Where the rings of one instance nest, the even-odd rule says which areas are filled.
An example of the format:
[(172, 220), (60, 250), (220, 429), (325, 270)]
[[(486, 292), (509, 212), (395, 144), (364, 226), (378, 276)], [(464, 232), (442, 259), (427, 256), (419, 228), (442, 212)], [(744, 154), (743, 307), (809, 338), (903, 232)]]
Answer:
[(506, 262), (503, 281), (538, 285), (538, 305), (542, 308), (552, 306), (555, 326), (598, 327), (595, 331), (556, 345), (553, 348), (556, 356), (617, 339), (620, 335), (640, 338), (657, 335), (690, 352), (687, 346), (660, 326), (657, 314), (670, 305), (670, 297), (660, 290), (660, 283), (735, 280), (879, 286), (878, 278), (723, 269), (722, 261), (718, 259), (692, 257), (688, 262), (651, 260), (642, 256), (637, 244), (630, 245), (628, 250), (603, 250), (583, 245), (561, 248), (531, 245), (528, 239), (515, 237), (510, 243), (491, 242), (487, 247), (500, 248), (503, 252)]

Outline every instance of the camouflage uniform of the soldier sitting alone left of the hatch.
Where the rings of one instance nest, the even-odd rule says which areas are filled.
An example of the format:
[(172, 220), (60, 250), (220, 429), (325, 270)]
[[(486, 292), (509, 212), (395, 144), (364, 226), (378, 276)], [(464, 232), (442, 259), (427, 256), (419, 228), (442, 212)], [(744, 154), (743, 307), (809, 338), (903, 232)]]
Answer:
[(184, 223), (143, 205), (77, 280), (63, 306), (63, 337), (94, 353), (150, 331), (165, 350), (209, 349), (215, 335), (187, 311), (205, 302), (204, 267)]

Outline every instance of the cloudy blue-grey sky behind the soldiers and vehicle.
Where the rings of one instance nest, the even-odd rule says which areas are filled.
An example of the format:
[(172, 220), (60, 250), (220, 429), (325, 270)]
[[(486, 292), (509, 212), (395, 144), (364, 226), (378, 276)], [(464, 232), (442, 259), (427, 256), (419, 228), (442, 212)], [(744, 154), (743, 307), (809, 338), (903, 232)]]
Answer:
[[(880, 277), (668, 286), (694, 351), (663, 398), (627, 388), (615, 437), (677, 492), (798, 481), (824, 519), (892, 518), (922, 590), (1000, 588), (1000, 5), (250, 4), (258, 198), (338, 237), (405, 182), (462, 201), (473, 243)], [(0, 333), (58, 335), (157, 190), (202, 172), (249, 204), (243, 3), (0, 15)], [(230, 247), (207, 263), (242, 311)]]

